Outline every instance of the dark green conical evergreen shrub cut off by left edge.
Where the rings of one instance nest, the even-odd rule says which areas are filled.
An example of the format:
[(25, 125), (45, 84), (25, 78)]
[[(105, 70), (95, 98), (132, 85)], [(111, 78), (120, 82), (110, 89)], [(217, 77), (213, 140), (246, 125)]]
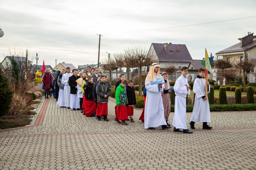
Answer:
[(11, 108), (13, 101), (13, 91), (10, 87), (9, 79), (0, 68), (0, 117), (6, 115)]

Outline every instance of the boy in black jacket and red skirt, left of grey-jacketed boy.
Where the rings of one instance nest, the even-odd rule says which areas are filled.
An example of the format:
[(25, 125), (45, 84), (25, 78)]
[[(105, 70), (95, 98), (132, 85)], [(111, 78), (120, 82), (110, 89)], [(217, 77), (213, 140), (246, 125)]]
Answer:
[(93, 99), (93, 88), (94, 82), (93, 77), (88, 76), (88, 82), (84, 86), (84, 95), (86, 98), (85, 116), (93, 117), (96, 116), (96, 103)]

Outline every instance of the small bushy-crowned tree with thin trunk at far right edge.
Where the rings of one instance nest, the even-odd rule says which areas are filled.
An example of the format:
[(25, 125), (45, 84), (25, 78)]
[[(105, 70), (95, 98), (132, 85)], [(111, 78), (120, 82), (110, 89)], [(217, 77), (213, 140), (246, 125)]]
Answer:
[(256, 67), (256, 62), (255, 62), (255, 60), (252, 60), (252, 58), (248, 57), (247, 53), (243, 59), (244, 60), (235, 61), (234, 67), (237, 69), (243, 70), (243, 84), (244, 84), (244, 92), (245, 92), (245, 90), (246, 90), (246, 86), (245, 86), (246, 70), (254, 69), (254, 67)]

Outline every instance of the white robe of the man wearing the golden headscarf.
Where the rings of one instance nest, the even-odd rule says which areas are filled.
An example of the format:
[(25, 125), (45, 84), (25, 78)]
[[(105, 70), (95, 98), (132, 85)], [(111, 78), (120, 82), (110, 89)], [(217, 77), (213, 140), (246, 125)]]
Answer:
[[(155, 81), (157, 74), (155, 73)], [(154, 128), (161, 125), (167, 125), (165, 120), (165, 111), (161, 91), (165, 87), (165, 81), (162, 79), (162, 87), (158, 88), (157, 84), (152, 85), (153, 81), (146, 81), (147, 97), (145, 104), (144, 125), (145, 129)]]

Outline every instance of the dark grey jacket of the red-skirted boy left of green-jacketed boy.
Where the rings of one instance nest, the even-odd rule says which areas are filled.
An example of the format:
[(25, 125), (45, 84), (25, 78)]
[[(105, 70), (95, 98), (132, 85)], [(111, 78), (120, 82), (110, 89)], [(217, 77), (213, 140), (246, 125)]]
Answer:
[[(105, 82), (99, 82), (96, 85), (97, 103), (108, 103), (110, 95), (110, 87)], [(107, 95), (107, 98), (104, 98)]]

